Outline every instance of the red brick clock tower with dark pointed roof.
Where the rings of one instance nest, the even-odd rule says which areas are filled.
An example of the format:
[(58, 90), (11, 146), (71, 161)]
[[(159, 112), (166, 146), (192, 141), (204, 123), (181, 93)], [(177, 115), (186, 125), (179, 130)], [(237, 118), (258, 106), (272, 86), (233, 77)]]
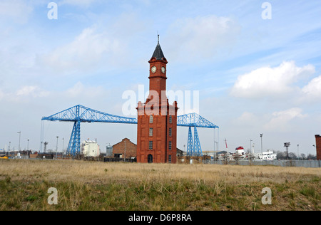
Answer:
[(153, 53), (149, 72), (149, 96), (138, 103), (137, 162), (176, 163), (177, 102), (168, 103), (165, 94), (166, 60), (158, 44)]

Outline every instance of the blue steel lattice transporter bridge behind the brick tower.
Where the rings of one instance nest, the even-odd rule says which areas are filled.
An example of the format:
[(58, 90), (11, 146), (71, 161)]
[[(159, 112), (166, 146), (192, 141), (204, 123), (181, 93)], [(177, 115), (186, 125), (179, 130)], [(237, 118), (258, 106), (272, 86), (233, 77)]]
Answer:
[[(136, 118), (121, 117), (118, 115), (111, 115), (106, 112), (100, 112), (87, 108), (83, 105), (76, 105), (67, 110), (63, 110), (49, 117), (43, 117), (42, 120), (73, 122), (73, 131), (69, 140), (67, 155), (76, 156), (80, 154), (81, 147), (81, 122), (111, 122), (111, 123), (125, 123), (137, 124)], [(188, 115), (178, 116), (177, 125), (179, 127), (189, 127), (188, 131), (188, 156), (202, 156), (202, 149), (200, 147), (200, 140), (196, 127), (205, 128), (219, 128), (212, 122), (201, 117), (197, 113), (190, 113)], [(191, 127), (194, 127), (194, 142)]]

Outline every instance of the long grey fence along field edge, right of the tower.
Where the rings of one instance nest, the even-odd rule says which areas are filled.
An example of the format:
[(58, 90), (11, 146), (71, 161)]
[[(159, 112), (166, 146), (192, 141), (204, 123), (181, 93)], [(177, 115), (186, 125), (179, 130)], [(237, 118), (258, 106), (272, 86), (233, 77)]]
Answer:
[(308, 167), (308, 168), (319, 168), (321, 167), (321, 160), (273, 160), (273, 161), (254, 161), (240, 160), (236, 161), (215, 161), (215, 160), (204, 160), (205, 164), (238, 164), (242, 166), (248, 165), (273, 165), (278, 167)]

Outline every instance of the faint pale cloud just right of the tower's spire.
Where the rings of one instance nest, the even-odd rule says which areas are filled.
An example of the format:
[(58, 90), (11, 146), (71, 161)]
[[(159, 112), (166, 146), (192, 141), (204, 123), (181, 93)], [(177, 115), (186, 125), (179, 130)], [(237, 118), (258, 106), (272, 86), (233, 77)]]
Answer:
[(172, 60), (173, 57), (183, 57), (184, 60), (195, 61), (226, 53), (239, 33), (240, 25), (233, 19), (214, 15), (198, 16), (175, 21), (170, 26), (170, 38), (166, 43), (170, 45), (168, 49), (173, 50)]

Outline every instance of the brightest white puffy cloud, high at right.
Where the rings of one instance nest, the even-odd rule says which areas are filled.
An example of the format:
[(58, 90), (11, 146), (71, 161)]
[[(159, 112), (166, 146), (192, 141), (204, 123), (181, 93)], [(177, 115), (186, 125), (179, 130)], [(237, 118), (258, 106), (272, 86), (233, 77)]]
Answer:
[(296, 90), (294, 83), (313, 73), (315, 73), (314, 66), (297, 67), (294, 61), (283, 62), (275, 68), (258, 68), (240, 75), (230, 93), (242, 98), (280, 97)]

